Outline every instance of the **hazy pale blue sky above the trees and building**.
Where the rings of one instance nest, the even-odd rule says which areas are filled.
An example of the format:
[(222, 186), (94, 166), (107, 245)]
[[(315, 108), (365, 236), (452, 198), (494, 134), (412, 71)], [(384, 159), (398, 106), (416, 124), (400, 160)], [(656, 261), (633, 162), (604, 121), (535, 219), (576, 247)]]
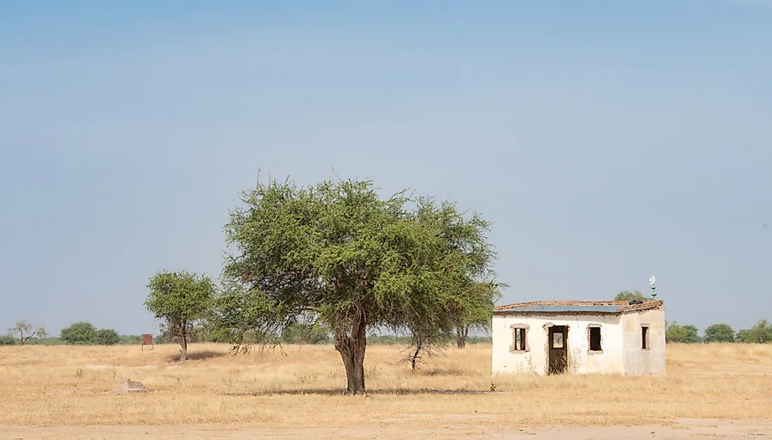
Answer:
[[(157, 330), (258, 171), (494, 222), (501, 303), (772, 319), (772, 2), (5, 2), (0, 326)], [(767, 224), (767, 227), (765, 227)]]

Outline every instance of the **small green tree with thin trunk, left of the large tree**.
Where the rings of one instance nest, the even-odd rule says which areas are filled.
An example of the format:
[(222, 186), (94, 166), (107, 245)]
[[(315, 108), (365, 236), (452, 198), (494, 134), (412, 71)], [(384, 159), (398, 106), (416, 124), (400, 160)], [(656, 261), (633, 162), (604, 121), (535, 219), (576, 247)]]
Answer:
[(147, 310), (163, 320), (162, 331), (180, 344), (180, 361), (188, 360), (188, 341), (195, 323), (205, 317), (215, 284), (195, 273), (158, 272), (147, 284)]

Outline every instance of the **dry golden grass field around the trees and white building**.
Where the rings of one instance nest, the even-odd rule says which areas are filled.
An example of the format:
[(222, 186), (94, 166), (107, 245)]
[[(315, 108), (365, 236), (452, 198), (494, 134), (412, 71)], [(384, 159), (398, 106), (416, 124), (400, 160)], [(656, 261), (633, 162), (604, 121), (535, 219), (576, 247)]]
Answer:
[[(367, 396), (344, 396), (330, 346), (258, 357), (225, 345), (0, 347), (0, 425), (229, 423), (639, 425), (675, 418), (768, 419), (772, 345), (669, 345), (667, 377), (491, 377), (489, 345), (451, 349), (418, 374), (400, 347), (371, 345)], [(112, 394), (124, 378), (150, 392)], [(491, 392), (491, 383), (496, 391)]]

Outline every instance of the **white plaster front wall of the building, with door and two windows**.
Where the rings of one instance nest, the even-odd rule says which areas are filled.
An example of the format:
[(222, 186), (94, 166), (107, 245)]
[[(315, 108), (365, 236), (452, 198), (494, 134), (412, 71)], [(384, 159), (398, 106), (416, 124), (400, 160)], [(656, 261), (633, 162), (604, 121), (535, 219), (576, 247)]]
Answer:
[[(528, 326), (528, 351), (512, 351), (513, 324)], [(590, 352), (587, 327), (600, 324), (602, 352)], [(598, 313), (538, 315), (532, 313), (493, 316), (493, 374), (547, 374), (547, 327), (568, 326), (568, 371), (578, 374), (625, 371), (621, 316)], [(653, 335), (652, 335), (653, 336)]]

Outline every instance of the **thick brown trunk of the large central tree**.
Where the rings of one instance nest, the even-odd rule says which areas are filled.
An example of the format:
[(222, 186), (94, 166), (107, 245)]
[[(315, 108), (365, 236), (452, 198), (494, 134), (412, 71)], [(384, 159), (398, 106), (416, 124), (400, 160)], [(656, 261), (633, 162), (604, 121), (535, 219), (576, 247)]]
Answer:
[(367, 317), (364, 311), (357, 311), (351, 323), (337, 324), (335, 333), (335, 350), (340, 353), (346, 367), (347, 391), (351, 394), (364, 394), (364, 350), (367, 347), (365, 327)]

